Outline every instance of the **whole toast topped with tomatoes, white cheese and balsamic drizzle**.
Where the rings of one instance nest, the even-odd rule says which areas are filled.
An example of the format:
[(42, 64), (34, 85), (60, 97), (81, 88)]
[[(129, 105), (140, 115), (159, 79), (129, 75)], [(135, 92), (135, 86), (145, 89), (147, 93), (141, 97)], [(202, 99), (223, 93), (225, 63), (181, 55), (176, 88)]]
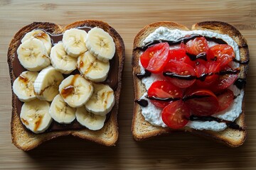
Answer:
[[(200, 68), (200, 65), (203, 65), (202, 63), (206, 62), (208, 56), (210, 56), (209, 53), (205, 53), (203, 55), (201, 54), (201, 56), (198, 54), (191, 55), (193, 51), (200, 48), (193, 47), (191, 52), (191, 44), (193, 45), (197, 38), (199, 40), (197, 41), (197, 43), (200, 42), (199, 44), (201, 44), (202, 46), (204, 46), (203, 42), (206, 42), (206, 44), (208, 43), (209, 51), (214, 49), (214, 45), (215, 47), (228, 46), (228, 48), (230, 49), (232, 49), (230, 46), (233, 47), (234, 52), (232, 53), (232, 57), (230, 57), (231, 61), (228, 60), (230, 66), (227, 66), (230, 72), (228, 73), (227, 70), (220, 70), (217, 72), (215, 70), (215, 74), (218, 74), (218, 76), (221, 77), (215, 77), (215, 79), (222, 80), (224, 79), (224, 76), (221, 76), (220, 72), (225, 75), (231, 75), (231, 70), (233, 70), (232, 76), (228, 76), (233, 77), (233, 84), (228, 84), (229, 86), (225, 84), (227, 85), (225, 86), (225, 88), (228, 87), (228, 89), (224, 92), (221, 91), (221, 93), (223, 94), (231, 94), (230, 100), (223, 100), (230, 101), (229, 104), (223, 104), (223, 102), (218, 99), (221, 98), (221, 95), (217, 92), (215, 93), (216, 89), (218, 89), (218, 85), (221, 85), (220, 89), (222, 89), (224, 86), (223, 84), (215, 84), (215, 86), (213, 86), (213, 90), (211, 90), (213, 91), (213, 94), (209, 92), (209, 90), (203, 92), (193, 91), (193, 89), (197, 89), (198, 86), (201, 87), (202, 84), (206, 84), (203, 80), (210, 80), (208, 79), (208, 77), (210, 77), (208, 75), (210, 74), (210, 72), (203, 72), (204, 75), (197, 75), (196, 73), (200, 72), (200, 69), (196, 69), (197, 72), (195, 73), (193, 68), (192, 70), (188, 69), (191, 68), (191, 66), (187, 66), (188, 64), (192, 63), (191, 65), (196, 65), (196, 68), (198, 68), (198, 66)], [(161, 48), (157, 48), (159, 46), (161, 46)], [(169, 53), (167, 55), (162, 55), (164, 53), (164, 50), (159, 50), (164, 49), (164, 46), (166, 46), (167, 49), (168, 47), (170, 48), (170, 50), (168, 49)], [(183, 50), (182, 48), (185, 50)], [(154, 53), (154, 50), (152, 49), (159, 50), (157, 52), (159, 52), (158, 54), (161, 54), (161, 57), (159, 57), (159, 55), (157, 60), (154, 60), (154, 62), (152, 62), (151, 60), (154, 58), (154, 54), (156, 54), (157, 52)], [(151, 52), (151, 57), (153, 56), (152, 59), (151, 57), (147, 57), (149, 55), (145, 55), (147, 51), (148, 54)], [(176, 55), (171, 55), (174, 53)], [(164, 67), (164, 69), (167, 68), (167, 71), (162, 71), (159, 73), (159, 69), (163, 69), (161, 68), (164, 63), (162, 60), (166, 60), (166, 58), (168, 58), (168, 56), (170, 55), (173, 58), (171, 60), (168, 59), (170, 61)], [(176, 60), (179, 61), (177, 62)], [(182, 62), (180, 62), (180, 60), (182, 60)], [(215, 60), (219, 60), (218, 55), (215, 55), (215, 57), (213, 56), (210, 62), (214, 63)], [(218, 64), (223, 64), (223, 61), (224, 60), (220, 60), (220, 63)], [(220, 21), (206, 21), (194, 24), (191, 30), (186, 28), (186, 26), (182, 26), (181, 24), (169, 21), (151, 23), (148, 26), (145, 26), (134, 38), (134, 50), (132, 52), (132, 67), (135, 94), (134, 113), (132, 120), (132, 133), (134, 139), (137, 141), (142, 141), (151, 137), (156, 137), (158, 135), (169, 134), (174, 131), (184, 131), (210, 138), (212, 140), (215, 140), (216, 142), (222, 142), (229, 147), (238, 147), (242, 145), (243, 142), (245, 142), (247, 136), (245, 125), (244, 90), (246, 84), (248, 62), (249, 50), (245, 38), (242, 37), (241, 33), (235, 27), (231, 26), (228, 23)], [(184, 74), (184, 72), (181, 72), (184, 66), (187, 66), (187, 72), (190, 72), (191, 70), (191, 74)], [(217, 67), (219, 67), (219, 65), (215, 65), (214, 69), (216, 69)], [(230, 69), (230, 67), (234, 67), (234, 69)], [(181, 71), (179, 71), (177, 68), (181, 69)], [(159, 76), (159, 74), (161, 75)], [(216, 76), (215, 74), (213, 76)], [(169, 93), (169, 96), (161, 96), (161, 92), (158, 92), (159, 94), (155, 92), (157, 90), (160, 91), (159, 89), (163, 89), (163, 87), (165, 86), (164, 84), (166, 84), (166, 79), (172, 84), (177, 84), (178, 82), (177, 86), (183, 87), (181, 88), (183, 90), (180, 91), (181, 95), (177, 93), (176, 95), (178, 95), (178, 97), (175, 97), (174, 94)], [(159, 89), (156, 88), (157, 86), (159, 86)], [(192, 95), (190, 92), (184, 90), (189, 89), (184, 88), (188, 86), (193, 86), (193, 93), (191, 92)], [(235, 87), (233, 87), (232, 89), (230, 88), (230, 86)], [(176, 87), (168, 86), (168, 88), (175, 89)], [(208, 89), (208, 87), (205, 89)], [(234, 89), (237, 89), (238, 93), (235, 92)], [(182, 96), (184, 95), (182, 93), (188, 94), (187, 96)], [(209, 100), (211, 102), (210, 105), (213, 105), (210, 110), (204, 108), (206, 105), (203, 102), (205, 101), (201, 100), (201, 98), (203, 97), (203, 93), (208, 94), (208, 97), (214, 96), (213, 98), (215, 98), (212, 98), (213, 100)], [(197, 95), (193, 96), (193, 94)], [(159, 95), (160, 97), (157, 98), (157, 95)], [(163, 101), (168, 102), (166, 104)], [(170, 101), (172, 104), (170, 103)], [(217, 103), (214, 105), (213, 101), (217, 101)], [(191, 108), (189, 108), (188, 106)], [(220, 109), (219, 107), (222, 108), (223, 111), (216, 113), (215, 108)], [(175, 117), (174, 113), (180, 114), (181, 116)], [(177, 123), (178, 120), (179, 122)]]

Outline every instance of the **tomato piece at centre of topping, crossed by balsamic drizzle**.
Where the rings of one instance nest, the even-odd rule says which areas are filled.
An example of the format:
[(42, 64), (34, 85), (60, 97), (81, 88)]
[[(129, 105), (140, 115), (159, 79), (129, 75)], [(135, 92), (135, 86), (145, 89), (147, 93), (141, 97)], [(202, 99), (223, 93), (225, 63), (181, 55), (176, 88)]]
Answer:
[(201, 60), (198, 64), (196, 64), (196, 77), (198, 77), (196, 84), (201, 87), (210, 86), (214, 81), (216, 81), (216, 79), (218, 79), (218, 74), (215, 73), (218, 73), (219, 71), (219, 62), (206, 62)]

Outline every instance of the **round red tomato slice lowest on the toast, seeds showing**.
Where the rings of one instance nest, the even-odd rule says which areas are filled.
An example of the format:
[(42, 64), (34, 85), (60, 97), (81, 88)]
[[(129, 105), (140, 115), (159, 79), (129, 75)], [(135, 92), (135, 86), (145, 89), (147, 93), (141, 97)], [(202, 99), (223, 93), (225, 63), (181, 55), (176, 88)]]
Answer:
[(189, 116), (189, 108), (183, 101), (169, 103), (161, 113), (164, 123), (172, 129), (183, 128), (188, 123)]

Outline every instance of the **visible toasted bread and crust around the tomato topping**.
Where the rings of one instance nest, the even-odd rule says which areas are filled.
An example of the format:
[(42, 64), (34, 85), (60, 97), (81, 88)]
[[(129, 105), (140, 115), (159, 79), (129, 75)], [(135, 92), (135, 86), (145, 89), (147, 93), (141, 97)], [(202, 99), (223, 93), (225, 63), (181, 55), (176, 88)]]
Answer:
[[(185, 26), (178, 23), (173, 23), (169, 21), (162, 21), (157, 23), (151, 23), (145, 26), (139, 31), (137, 36), (134, 38), (134, 50), (132, 52), (132, 67), (133, 67), (133, 77), (134, 77), (134, 99), (139, 99), (145, 92), (146, 87), (142, 84), (142, 81), (136, 77), (136, 74), (141, 72), (139, 67), (139, 50), (135, 50), (136, 47), (142, 47), (143, 40), (156, 28), (160, 26), (169, 28), (171, 30), (189, 30)], [(238, 43), (240, 49), (240, 60), (249, 61), (249, 50), (247, 47), (247, 42), (245, 38), (242, 37), (241, 33), (233, 26), (228, 23), (223, 23), (220, 21), (206, 21), (201, 23), (196, 23), (192, 26), (191, 30), (210, 30), (215, 33), (229, 35), (235, 42)], [(245, 79), (247, 74), (248, 64), (240, 64), (240, 74), (238, 78)], [(134, 101), (135, 101), (134, 100)], [(235, 130), (232, 128), (226, 128), (220, 132), (214, 132), (211, 130), (195, 130), (192, 128), (181, 128), (178, 131), (191, 132), (192, 134), (203, 136), (215, 140), (216, 142), (222, 142), (230, 147), (238, 147), (245, 142), (247, 131), (245, 125), (245, 97), (242, 98), (242, 113), (239, 118), (235, 120), (235, 123), (240, 125), (242, 130)], [(142, 115), (142, 110), (138, 103), (134, 102), (134, 113), (132, 120), (132, 134), (134, 139), (137, 141), (146, 140), (150, 137), (156, 137), (159, 135), (169, 134), (174, 132), (171, 128), (161, 128), (156, 127), (148, 123), (144, 116)]]

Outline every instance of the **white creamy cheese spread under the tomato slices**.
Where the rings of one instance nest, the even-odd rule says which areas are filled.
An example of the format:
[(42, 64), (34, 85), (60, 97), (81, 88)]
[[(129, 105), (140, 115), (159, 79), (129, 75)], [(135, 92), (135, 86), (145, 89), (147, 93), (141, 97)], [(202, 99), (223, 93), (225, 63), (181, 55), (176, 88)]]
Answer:
[[(218, 33), (213, 33), (208, 30), (191, 30), (191, 31), (184, 31), (184, 30), (170, 30), (168, 28), (160, 27), (157, 28), (153, 33), (149, 34), (148, 37), (143, 41), (143, 45), (145, 45), (147, 42), (151, 42), (153, 40), (178, 40), (179, 38), (184, 37), (185, 35), (191, 35), (191, 34), (199, 34), (208, 36), (210, 38), (221, 38), (225, 42), (228, 43), (231, 47), (233, 47), (233, 50), (235, 51), (235, 58), (236, 60), (240, 60), (240, 53), (238, 44), (230, 38), (228, 35), (222, 35)], [(215, 45), (214, 43), (209, 43), (209, 46)], [(174, 47), (170, 47), (174, 48)], [(141, 72), (144, 73), (145, 70), (142, 67), (142, 64), (139, 61), (139, 66), (141, 67)], [(239, 64), (233, 65), (233, 67), (239, 67)], [(161, 74), (151, 74), (150, 77), (144, 77), (142, 79), (142, 83), (146, 86), (146, 90), (149, 89), (151, 84), (156, 80), (163, 80), (165, 79), (164, 76)], [(234, 121), (236, 118), (239, 117), (240, 113), (242, 113), (242, 98), (244, 96), (244, 91), (238, 89), (236, 86), (232, 85), (229, 87), (230, 90), (233, 91), (234, 95), (237, 96), (233, 103), (226, 108), (224, 111), (221, 111), (219, 113), (215, 113), (212, 115), (215, 118), (220, 118), (223, 120), (229, 120)], [(155, 126), (161, 126), (166, 127), (166, 124), (161, 119), (161, 108), (158, 108), (152, 104), (148, 98), (145, 97), (146, 93), (142, 96), (142, 98), (146, 101), (148, 101), (149, 105), (142, 108), (142, 115), (144, 115), (144, 118), (146, 121), (151, 123)], [(193, 128), (196, 130), (213, 130), (213, 131), (221, 131), (227, 128), (227, 125), (225, 123), (218, 123), (216, 121), (189, 121), (186, 125), (189, 128)]]

